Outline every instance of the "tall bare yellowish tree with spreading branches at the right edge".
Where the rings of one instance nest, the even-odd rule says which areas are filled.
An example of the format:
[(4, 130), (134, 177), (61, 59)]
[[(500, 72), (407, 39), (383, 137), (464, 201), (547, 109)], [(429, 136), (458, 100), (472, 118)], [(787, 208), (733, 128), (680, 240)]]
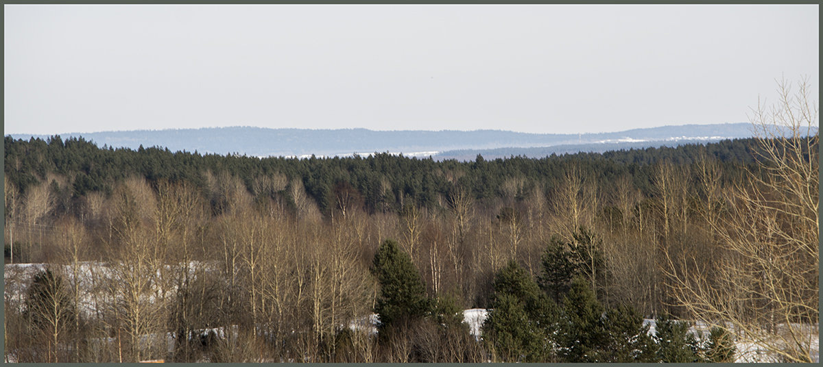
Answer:
[(773, 360), (809, 362), (819, 320), (818, 111), (807, 79), (780, 80), (778, 92), (750, 116), (759, 169), (723, 191), (723, 213), (707, 216), (719, 266), (670, 254), (667, 275), (696, 319)]

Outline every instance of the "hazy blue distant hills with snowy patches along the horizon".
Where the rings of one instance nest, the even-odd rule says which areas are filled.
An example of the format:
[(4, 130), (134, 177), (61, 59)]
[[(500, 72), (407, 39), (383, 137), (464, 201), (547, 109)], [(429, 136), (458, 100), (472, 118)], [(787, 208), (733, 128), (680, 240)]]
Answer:
[[(98, 146), (159, 146), (172, 151), (201, 154), (245, 154), (249, 156), (346, 156), (374, 152), (429, 155), (456, 158), (457, 155), (486, 152), (508, 156), (545, 156), (551, 153), (602, 151), (602, 149), (674, 146), (723, 139), (751, 137), (751, 124), (659, 126), (627, 131), (586, 134), (532, 134), (514, 131), (372, 131), (356, 129), (270, 129), (251, 126), (200, 129), (72, 132), (58, 134), (63, 139), (83, 137)], [(13, 134), (15, 139), (48, 138), (49, 135)], [(555, 147), (556, 149), (552, 149)], [(459, 152), (450, 152), (459, 151)], [(519, 152), (519, 153), (513, 153)], [(458, 154), (459, 153), (459, 154)], [(485, 154), (484, 154), (485, 156)], [(493, 157), (491, 157), (493, 158)]]

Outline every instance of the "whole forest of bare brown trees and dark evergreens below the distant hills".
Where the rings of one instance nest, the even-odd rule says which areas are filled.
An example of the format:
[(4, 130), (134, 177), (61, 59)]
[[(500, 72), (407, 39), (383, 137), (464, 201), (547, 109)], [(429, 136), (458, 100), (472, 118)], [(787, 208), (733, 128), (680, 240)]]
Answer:
[(467, 162), (4, 148), (6, 262), (41, 264), (7, 266), (16, 361), (731, 361), (760, 329), (811, 358), (786, 325), (818, 322), (816, 133)]

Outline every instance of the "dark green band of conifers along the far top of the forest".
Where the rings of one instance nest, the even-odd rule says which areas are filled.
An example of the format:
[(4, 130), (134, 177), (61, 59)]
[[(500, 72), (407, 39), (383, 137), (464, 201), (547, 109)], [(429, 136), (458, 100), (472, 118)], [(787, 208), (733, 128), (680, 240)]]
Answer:
[[(160, 179), (188, 181), (203, 190), (203, 173), (207, 171), (215, 175), (226, 172), (233, 177), (242, 177), (247, 187), (251, 187), (253, 177), (280, 172), (289, 181), (303, 181), (306, 192), (319, 204), (321, 211), (330, 214), (337, 205), (335, 189), (341, 183), (351, 193), (356, 191), (356, 201), (359, 202), (361, 196), (362, 206), (374, 213), (398, 210), (402, 204), (409, 202), (421, 208), (435, 205), (437, 195), (447, 195), (453, 187), (446, 175), (437, 172), (455, 173), (454, 176), (461, 177), (457, 182), (459, 185), (471, 187), (475, 199), (485, 200), (499, 197), (498, 188), (510, 177), (525, 178), (524, 191), (535, 185), (551, 187), (560, 180), (565, 167), (570, 164), (579, 165), (585, 174), (602, 182), (628, 173), (634, 177), (635, 186), (648, 196), (652, 192), (649, 178), (651, 164), (661, 159), (676, 164), (692, 164), (700, 154), (706, 153), (721, 161), (723, 170), (728, 172), (723, 177), (735, 177), (735, 172), (741, 172), (742, 167), (753, 166), (753, 142), (724, 140), (708, 145), (631, 149), (603, 154), (553, 154), (537, 159), (518, 156), (486, 160), (477, 157), (467, 162), (435, 162), (428, 158), (406, 158), (387, 153), (368, 158), (260, 159), (237, 154), (172, 152), (156, 147), (99, 148), (90, 141), (73, 137), (66, 140), (59, 136), (48, 140), (15, 140), (6, 136), (4, 158), (6, 175), (21, 193), (30, 185), (43, 181), (48, 172), (55, 172), (73, 177), (71, 192), (68, 193), (72, 200), (90, 191), (102, 191), (108, 195), (117, 181), (133, 175), (145, 177), (151, 182)], [(730, 178), (724, 178), (727, 179)], [(381, 190), (384, 181), (391, 190)], [(66, 194), (61, 193), (63, 198), (67, 198)], [(220, 210), (215, 213), (220, 213)]]

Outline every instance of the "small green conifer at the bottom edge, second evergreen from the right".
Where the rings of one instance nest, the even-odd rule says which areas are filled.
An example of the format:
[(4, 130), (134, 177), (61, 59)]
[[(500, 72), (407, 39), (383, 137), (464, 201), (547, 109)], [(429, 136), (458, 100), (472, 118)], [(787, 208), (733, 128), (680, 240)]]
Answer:
[(689, 333), (691, 323), (672, 319), (668, 314), (655, 320), (655, 342), (658, 344), (658, 358), (667, 363), (692, 363), (700, 361), (698, 338)]

